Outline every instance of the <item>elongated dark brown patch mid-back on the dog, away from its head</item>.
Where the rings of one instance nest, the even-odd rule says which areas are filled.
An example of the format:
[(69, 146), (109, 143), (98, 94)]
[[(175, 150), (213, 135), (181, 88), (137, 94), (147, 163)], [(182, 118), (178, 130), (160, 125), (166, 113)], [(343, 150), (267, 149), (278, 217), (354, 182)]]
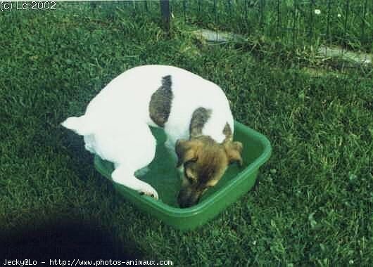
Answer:
[(165, 126), (165, 123), (170, 116), (173, 98), (171, 86), (171, 76), (167, 75), (162, 79), (162, 86), (151, 95), (149, 115), (153, 122), (160, 127)]

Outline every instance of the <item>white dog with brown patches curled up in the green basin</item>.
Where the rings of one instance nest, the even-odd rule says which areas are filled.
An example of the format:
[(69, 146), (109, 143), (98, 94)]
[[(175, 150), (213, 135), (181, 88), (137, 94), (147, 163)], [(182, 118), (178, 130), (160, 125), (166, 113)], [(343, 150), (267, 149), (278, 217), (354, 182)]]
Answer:
[(220, 181), (229, 164), (242, 165), (234, 119), (219, 86), (179, 67), (144, 65), (120, 74), (94, 97), (84, 115), (62, 125), (84, 136), (85, 148), (114, 164), (113, 181), (158, 199), (134, 176), (156, 154), (149, 126), (163, 128), (182, 178), (177, 201), (191, 207)]

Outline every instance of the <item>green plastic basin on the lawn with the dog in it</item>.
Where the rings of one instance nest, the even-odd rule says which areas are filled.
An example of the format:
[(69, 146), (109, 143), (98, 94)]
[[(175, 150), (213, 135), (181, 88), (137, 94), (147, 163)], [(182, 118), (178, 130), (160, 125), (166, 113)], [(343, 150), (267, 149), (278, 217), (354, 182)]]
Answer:
[[(242, 152), (244, 166), (241, 168), (236, 164), (229, 166), (219, 183), (210, 188), (201, 197), (198, 204), (180, 209), (177, 205), (177, 194), (181, 181), (175, 168), (175, 161), (163, 145), (165, 133), (162, 129), (156, 128), (152, 128), (151, 131), (157, 139), (156, 157), (149, 164), (148, 172), (138, 178), (151, 184), (157, 190), (160, 200), (140, 195), (118, 183), (113, 182), (113, 185), (120, 195), (132, 202), (138, 209), (152, 214), (179, 230), (189, 230), (201, 226), (217, 216), (220, 211), (235, 202), (241, 195), (247, 193), (255, 183), (259, 167), (269, 159), (271, 154), (270, 141), (265, 136), (244, 126), (244, 124), (234, 122), (234, 141), (244, 144)], [(103, 176), (111, 180), (112, 163), (96, 156), (94, 166)]]

